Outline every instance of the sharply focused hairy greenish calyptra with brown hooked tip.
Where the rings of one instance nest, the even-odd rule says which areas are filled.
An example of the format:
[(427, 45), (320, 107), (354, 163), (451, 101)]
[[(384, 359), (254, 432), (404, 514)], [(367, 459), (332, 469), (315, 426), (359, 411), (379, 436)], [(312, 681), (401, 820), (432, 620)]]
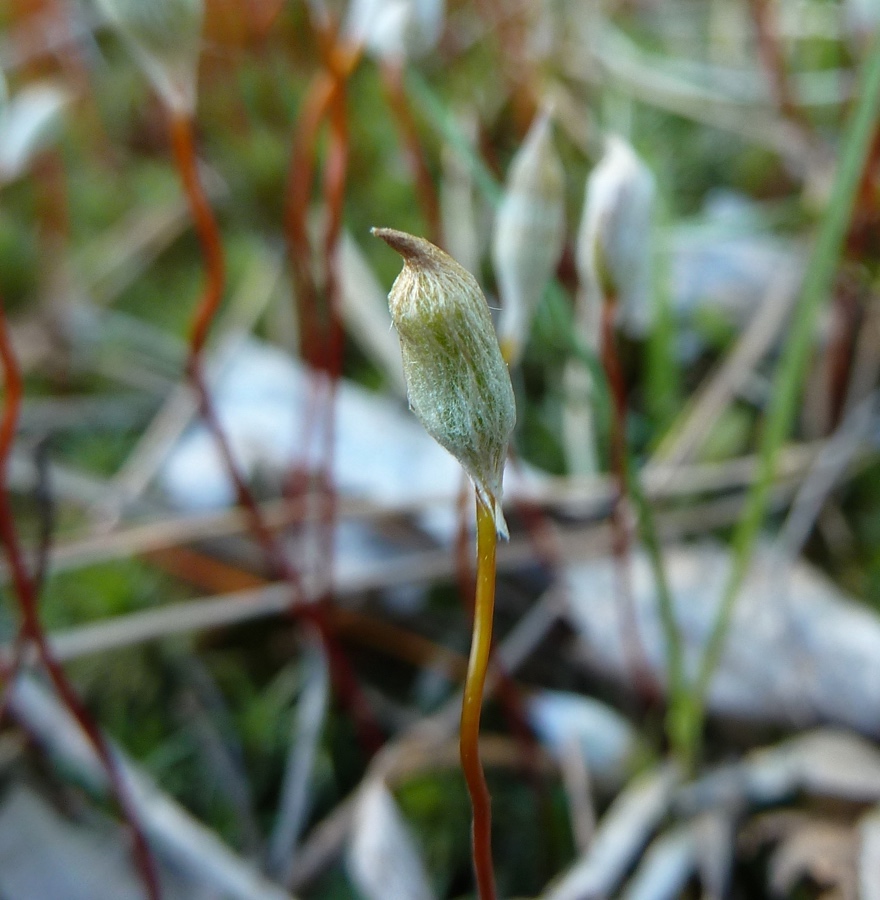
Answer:
[(388, 306), (410, 406), (461, 463), (506, 537), (501, 480), (516, 406), (486, 298), (470, 272), (424, 238), (373, 233), (404, 260)]

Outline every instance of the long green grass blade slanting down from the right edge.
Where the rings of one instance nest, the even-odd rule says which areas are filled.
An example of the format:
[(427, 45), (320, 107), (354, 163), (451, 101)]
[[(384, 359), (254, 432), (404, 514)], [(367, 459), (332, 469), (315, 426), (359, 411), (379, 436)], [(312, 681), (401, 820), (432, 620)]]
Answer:
[(697, 674), (693, 708), (689, 721), (685, 723), (687, 739), (694, 751), (700, 741), (706, 692), (724, 652), (736, 598), (748, 573), (754, 545), (764, 522), (776, 472), (776, 457), (794, 421), (817, 315), (834, 282), (859, 181), (880, 118), (880, 37), (875, 39), (865, 62), (856, 98), (856, 107), (843, 138), (828, 208), (804, 275), (800, 304), (792, 316), (791, 330), (773, 382), (761, 433), (757, 477), (733, 537), (730, 576)]

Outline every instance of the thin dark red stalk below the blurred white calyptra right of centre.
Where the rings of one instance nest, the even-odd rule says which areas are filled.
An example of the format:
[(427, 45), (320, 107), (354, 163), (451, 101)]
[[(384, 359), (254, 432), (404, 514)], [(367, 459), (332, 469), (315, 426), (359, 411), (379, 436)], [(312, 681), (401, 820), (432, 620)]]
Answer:
[(611, 507), (611, 551), (614, 555), (620, 631), (624, 657), (627, 660), (636, 692), (647, 699), (655, 699), (657, 687), (645, 648), (639, 637), (635, 598), (632, 587), (632, 530), (628, 518), (626, 452), (626, 382), (617, 355), (614, 333), (614, 314), (617, 302), (606, 297), (602, 304), (602, 366), (608, 379), (612, 400), (611, 469), (617, 482), (617, 492)]

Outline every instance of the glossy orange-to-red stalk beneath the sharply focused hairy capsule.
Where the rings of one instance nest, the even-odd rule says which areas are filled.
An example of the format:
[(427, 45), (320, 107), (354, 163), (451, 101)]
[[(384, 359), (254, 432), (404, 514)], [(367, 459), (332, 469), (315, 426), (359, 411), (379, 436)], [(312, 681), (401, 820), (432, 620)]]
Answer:
[(492, 810), (489, 788), (480, 762), (480, 713), (483, 688), (492, 649), (492, 616), (495, 608), (495, 517), (477, 497), (477, 592), (474, 632), (461, 705), (461, 768), (473, 807), (473, 859), (479, 900), (495, 900), (492, 867)]

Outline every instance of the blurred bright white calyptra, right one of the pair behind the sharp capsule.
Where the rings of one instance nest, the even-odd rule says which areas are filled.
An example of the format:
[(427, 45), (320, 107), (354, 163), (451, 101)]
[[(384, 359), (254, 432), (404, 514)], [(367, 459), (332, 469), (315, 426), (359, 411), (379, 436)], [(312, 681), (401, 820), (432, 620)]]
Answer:
[[(656, 184), (618, 135), (587, 179), (576, 262), (589, 302), (613, 294), (620, 326), (635, 336), (651, 327), (651, 218)], [(594, 316), (587, 318), (593, 319)]]

